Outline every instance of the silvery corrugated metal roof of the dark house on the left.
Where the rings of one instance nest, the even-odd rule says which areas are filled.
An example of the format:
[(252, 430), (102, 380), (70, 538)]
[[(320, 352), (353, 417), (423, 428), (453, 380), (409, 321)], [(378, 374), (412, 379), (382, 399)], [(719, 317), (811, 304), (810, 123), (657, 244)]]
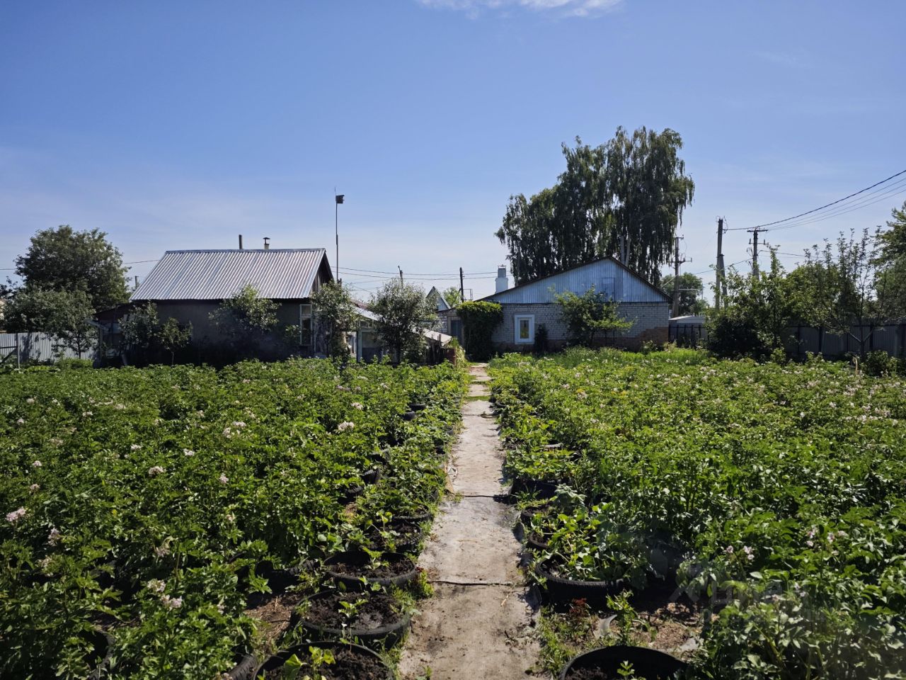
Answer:
[(324, 248), (168, 250), (130, 300), (223, 300), (246, 285), (272, 300), (308, 297), (325, 257)]

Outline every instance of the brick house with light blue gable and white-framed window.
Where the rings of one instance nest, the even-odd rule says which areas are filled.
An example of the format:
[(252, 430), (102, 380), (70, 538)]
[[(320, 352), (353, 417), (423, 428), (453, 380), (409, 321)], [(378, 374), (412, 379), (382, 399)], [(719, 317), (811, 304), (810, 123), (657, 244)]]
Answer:
[[(567, 290), (583, 295), (590, 287), (616, 300), (620, 315), (633, 322), (628, 331), (602, 337), (602, 345), (638, 349), (646, 341), (659, 345), (667, 342), (670, 296), (616, 258), (603, 257), (512, 288), (508, 287), (506, 268), (500, 267), (496, 293), (482, 298), (482, 301), (496, 302), (503, 307), (503, 321), (492, 335), (496, 349), (500, 352), (531, 351), (535, 345), (535, 331), (541, 325), (547, 329), (548, 347), (562, 348), (569, 334), (554, 295)], [(459, 319), (455, 309), (439, 312), (439, 316), (445, 333), (460, 335), (456, 332)]]

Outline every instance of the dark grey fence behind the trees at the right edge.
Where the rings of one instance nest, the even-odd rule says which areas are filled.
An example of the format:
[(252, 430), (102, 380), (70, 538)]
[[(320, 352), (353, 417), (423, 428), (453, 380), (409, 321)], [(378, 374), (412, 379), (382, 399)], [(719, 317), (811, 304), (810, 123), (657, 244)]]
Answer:
[[(866, 352), (883, 351), (891, 356), (906, 356), (906, 320), (884, 325), (853, 325), (847, 335), (836, 335), (814, 325), (791, 325), (786, 329), (786, 350), (795, 356), (821, 354), (827, 358), (860, 353), (864, 338)], [(708, 340), (704, 324), (670, 324), (670, 342), (683, 347), (699, 347)]]

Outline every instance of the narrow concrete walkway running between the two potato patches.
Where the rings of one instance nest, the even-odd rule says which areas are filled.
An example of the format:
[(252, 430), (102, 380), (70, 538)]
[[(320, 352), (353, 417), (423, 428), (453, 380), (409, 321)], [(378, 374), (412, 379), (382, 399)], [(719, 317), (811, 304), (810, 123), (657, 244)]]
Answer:
[[(483, 364), (469, 393), (487, 396)], [(525, 678), (537, 660), (532, 609), (519, 571), (508, 507), (495, 500), (504, 454), (487, 399), (463, 407), (463, 430), (448, 466), (448, 499), (419, 559), (434, 585), (402, 651), (406, 680)]]

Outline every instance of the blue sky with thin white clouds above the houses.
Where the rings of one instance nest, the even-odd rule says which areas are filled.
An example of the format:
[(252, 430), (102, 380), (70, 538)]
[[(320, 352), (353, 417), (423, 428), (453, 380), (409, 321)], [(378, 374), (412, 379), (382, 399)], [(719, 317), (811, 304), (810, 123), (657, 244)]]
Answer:
[[(718, 215), (751, 227), (906, 170), (904, 24), (901, 0), (10, 0), (0, 267), (58, 224), (127, 262), (242, 233), (333, 263), (336, 186), (341, 267), (426, 287), (464, 267), (481, 296), (509, 195), (553, 184), (561, 142), (646, 125), (683, 137), (685, 268), (707, 271)], [(795, 254), (904, 198), (767, 238)]]

